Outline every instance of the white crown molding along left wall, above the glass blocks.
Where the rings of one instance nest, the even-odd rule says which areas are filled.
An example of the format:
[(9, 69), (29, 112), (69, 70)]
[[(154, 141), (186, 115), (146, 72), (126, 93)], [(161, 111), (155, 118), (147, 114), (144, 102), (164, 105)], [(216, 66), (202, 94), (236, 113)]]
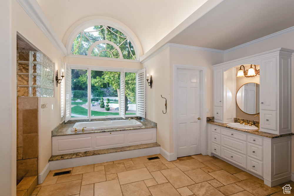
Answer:
[(30, 18), (36, 23), (41, 29), (49, 41), (54, 47), (60, 52), (62, 56), (67, 55), (66, 48), (57, 36), (55, 30), (51, 26), (49, 20), (41, 9), (40, 5), (36, 0), (16, 0), (20, 6), (26, 11)]

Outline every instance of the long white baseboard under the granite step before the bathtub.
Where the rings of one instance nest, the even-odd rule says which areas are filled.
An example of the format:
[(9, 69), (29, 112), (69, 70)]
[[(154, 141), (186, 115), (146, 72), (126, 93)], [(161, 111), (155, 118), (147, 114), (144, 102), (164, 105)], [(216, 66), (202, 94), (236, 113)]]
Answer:
[(159, 154), (159, 146), (152, 148), (143, 148), (137, 150), (127, 150), (116, 153), (108, 153), (101, 155), (93, 155), (72, 159), (56, 160), (50, 161), (50, 170), (64, 169), (68, 167), (77, 167), (83, 165), (91, 165), (95, 163), (104, 163), (108, 161), (122, 160), (128, 158), (135, 158), (147, 155), (156, 155)]

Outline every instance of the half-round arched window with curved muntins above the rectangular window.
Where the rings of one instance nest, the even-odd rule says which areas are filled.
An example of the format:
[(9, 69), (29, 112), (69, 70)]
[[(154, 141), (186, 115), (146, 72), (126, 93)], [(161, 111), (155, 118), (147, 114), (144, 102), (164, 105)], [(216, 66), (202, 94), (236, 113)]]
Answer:
[(71, 46), (71, 54), (136, 60), (130, 38), (108, 26), (91, 26), (80, 31)]

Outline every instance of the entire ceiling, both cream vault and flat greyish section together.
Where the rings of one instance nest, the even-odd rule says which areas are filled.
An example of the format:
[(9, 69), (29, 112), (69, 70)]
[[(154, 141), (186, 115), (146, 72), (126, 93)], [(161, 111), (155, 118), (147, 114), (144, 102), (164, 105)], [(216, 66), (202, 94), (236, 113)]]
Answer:
[[(160, 41), (161, 45), (157, 47), (165, 43), (177, 43), (227, 50), (294, 26), (293, 0), (37, 2), (60, 40), (79, 20), (90, 16), (106, 16), (131, 29), (140, 41), (143, 53), (152, 47), (154, 49)], [(206, 7), (206, 11), (199, 11), (203, 7)], [(202, 15), (198, 14), (197, 18), (191, 19), (197, 12)], [(182, 29), (175, 31), (179, 26)]]

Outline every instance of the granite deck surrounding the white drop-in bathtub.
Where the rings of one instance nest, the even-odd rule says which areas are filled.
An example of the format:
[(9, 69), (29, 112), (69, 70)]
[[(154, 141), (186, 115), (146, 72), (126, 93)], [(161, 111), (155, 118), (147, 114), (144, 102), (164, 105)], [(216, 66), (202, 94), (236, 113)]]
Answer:
[(143, 126), (86, 130), (86, 131), (84, 131), (84, 133), (82, 133), (82, 131), (78, 131), (77, 133), (71, 132), (71, 129), (74, 127), (74, 124), (76, 123), (76, 121), (71, 121), (69, 123), (63, 123), (63, 124), (60, 124), (59, 126), (57, 126), (54, 130), (52, 130), (51, 136), (54, 137), (54, 136), (62, 136), (62, 135), (78, 135), (78, 134), (87, 134), (87, 133), (101, 133), (101, 132), (110, 132), (110, 131), (148, 129), (148, 128), (156, 128), (157, 127), (157, 123), (154, 123), (153, 121), (148, 120), (146, 118), (136, 119), (136, 120), (138, 122), (142, 123)]

